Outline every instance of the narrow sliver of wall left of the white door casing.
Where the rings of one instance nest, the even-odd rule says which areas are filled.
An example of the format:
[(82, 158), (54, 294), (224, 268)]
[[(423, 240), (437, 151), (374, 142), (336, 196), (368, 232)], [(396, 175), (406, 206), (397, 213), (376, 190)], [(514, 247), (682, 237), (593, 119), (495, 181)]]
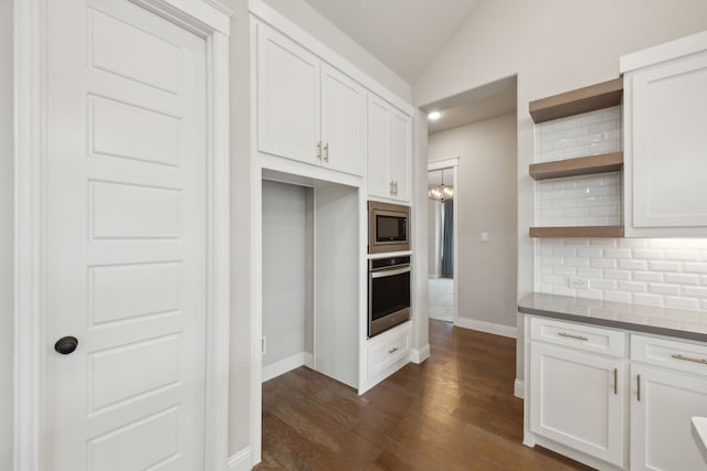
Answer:
[(0, 469), (12, 469), (12, 1), (0, 2)]

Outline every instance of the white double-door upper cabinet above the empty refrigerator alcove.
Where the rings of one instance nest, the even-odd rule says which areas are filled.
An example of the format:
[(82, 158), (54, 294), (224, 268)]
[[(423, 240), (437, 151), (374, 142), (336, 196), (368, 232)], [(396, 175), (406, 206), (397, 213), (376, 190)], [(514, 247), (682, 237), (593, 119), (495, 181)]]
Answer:
[(257, 26), (257, 150), (361, 175), (366, 90), (277, 31)]

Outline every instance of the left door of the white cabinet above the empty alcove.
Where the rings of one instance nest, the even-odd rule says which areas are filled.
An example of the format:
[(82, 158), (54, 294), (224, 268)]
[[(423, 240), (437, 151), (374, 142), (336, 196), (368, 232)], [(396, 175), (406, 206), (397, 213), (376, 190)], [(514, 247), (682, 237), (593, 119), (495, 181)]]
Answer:
[(319, 60), (257, 26), (257, 149), (318, 164)]

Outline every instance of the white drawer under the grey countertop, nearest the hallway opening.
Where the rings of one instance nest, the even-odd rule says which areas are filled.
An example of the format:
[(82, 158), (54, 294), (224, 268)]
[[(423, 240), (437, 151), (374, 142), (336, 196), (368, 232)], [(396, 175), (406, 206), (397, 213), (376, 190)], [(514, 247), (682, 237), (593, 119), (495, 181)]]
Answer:
[(626, 351), (622, 331), (547, 318), (530, 318), (530, 339), (611, 356)]

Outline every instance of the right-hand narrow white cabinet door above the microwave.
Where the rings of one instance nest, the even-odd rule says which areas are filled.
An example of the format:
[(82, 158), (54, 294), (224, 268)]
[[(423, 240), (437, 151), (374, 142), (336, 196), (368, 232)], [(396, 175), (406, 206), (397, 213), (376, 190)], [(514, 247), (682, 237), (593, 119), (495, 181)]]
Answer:
[(391, 128), (390, 159), (393, 197), (395, 200), (410, 201), (412, 121), (409, 116), (393, 110)]

